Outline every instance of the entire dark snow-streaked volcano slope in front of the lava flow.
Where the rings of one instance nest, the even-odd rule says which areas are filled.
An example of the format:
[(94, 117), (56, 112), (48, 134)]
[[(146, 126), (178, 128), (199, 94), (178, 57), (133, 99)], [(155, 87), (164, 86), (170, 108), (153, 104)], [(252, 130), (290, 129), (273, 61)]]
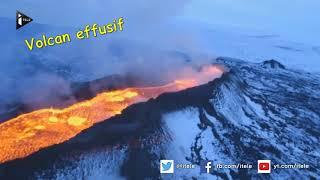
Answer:
[[(1, 164), (0, 179), (319, 179), (320, 78), (276, 61), (215, 63), (230, 71), (130, 106), (63, 144)], [(160, 159), (196, 166), (160, 174)], [(200, 174), (204, 159), (253, 167)], [(310, 168), (258, 174), (259, 159)]]

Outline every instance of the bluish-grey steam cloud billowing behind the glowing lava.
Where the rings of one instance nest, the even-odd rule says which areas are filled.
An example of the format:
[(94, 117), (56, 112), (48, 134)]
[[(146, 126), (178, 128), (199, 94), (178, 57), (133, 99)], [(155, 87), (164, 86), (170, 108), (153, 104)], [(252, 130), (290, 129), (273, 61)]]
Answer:
[[(34, 106), (37, 101), (57, 101), (58, 96), (70, 93), (70, 81), (93, 80), (110, 74), (170, 80), (184, 66), (209, 62), (210, 57), (198, 53), (201, 45), (197, 37), (179, 28), (174, 19), (187, 3), (187, 0), (6, 1), (0, 10), (2, 17), (12, 18), (12, 12), (19, 9), (35, 21), (23, 32), (2, 30), (10, 41), (8, 38), (0, 42), (5, 49), (0, 62), (0, 114), (1, 109), (13, 102)], [(105, 24), (117, 17), (125, 18), (124, 31), (106, 38), (73, 41), (34, 52), (27, 51), (23, 44), (25, 38), (72, 33), (85, 24)], [(12, 25), (4, 18), (0, 21), (8, 27)]]

